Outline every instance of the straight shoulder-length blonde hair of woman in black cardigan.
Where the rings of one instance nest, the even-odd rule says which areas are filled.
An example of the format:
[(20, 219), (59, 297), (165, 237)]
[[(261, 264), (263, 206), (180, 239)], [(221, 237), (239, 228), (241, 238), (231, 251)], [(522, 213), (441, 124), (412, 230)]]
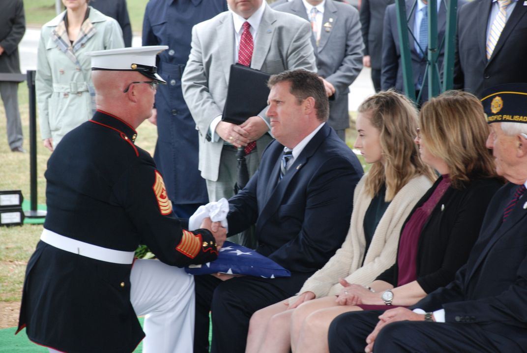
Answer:
[(464, 188), (471, 179), (495, 177), (483, 106), (473, 94), (447, 91), (426, 102), (419, 113), (426, 149), (444, 160), (452, 187)]

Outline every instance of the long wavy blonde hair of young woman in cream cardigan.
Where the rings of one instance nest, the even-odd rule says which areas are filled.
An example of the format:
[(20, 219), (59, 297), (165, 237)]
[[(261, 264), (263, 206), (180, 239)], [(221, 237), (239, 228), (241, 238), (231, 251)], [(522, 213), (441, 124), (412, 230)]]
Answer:
[(385, 201), (392, 201), (397, 192), (416, 175), (435, 180), (432, 169), (419, 158), (414, 143), (417, 111), (404, 95), (395, 91), (379, 92), (368, 97), (358, 108), (368, 115), (380, 135), (383, 158), (372, 164), (365, 180), (365, 190), (374, 197), (386, 184)]

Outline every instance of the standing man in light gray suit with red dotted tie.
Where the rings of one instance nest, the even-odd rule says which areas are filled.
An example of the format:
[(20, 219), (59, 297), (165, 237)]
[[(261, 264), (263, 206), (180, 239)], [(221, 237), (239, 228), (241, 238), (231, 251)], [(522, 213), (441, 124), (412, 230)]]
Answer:
[[(198, 168), (207, 181), (210, 201), (232, 196), (238, 147), (247, 147), (250, 176), (271, 141), (266, 110), (248, 116), (241, 125), (221, 121), (230, 65), (250, 63), (252, 68), (269, 74), (297, 68), (315, 70), (308, 22), (274, 11), (263, 0), (227, 3), (231, 11), (192, 28), (192, 49), (181, 78), (183, 97), (199, 132)], [(248, 40), (250, 45), (240, 45)], [(252, 148), (251, 142), (255, 141), (256, 148)]]

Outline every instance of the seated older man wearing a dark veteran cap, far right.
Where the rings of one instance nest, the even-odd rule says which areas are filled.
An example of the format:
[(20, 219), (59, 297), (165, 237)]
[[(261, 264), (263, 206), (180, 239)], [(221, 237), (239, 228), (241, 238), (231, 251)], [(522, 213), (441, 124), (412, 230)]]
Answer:
[(487, 147), (497, 173), (509, 183), (492, 199), (467, 264), (413, 311), (399, 307), (338, 316), (329, 329), (331, 352), (523, 352), (527, 347), (527, 84), (496, 86), (483, 97)]

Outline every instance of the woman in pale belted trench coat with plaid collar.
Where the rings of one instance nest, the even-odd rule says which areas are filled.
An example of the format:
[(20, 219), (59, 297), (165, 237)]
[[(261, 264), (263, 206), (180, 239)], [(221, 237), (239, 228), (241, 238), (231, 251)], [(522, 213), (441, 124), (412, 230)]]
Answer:
[(119, 24), (88, 6), (89, 0), (62, 2), (66, 11), (42, 27), (38, 44), (40, 131), (50, 151), (95, 111), (90, 57), (84, 54), (124, 47)]

